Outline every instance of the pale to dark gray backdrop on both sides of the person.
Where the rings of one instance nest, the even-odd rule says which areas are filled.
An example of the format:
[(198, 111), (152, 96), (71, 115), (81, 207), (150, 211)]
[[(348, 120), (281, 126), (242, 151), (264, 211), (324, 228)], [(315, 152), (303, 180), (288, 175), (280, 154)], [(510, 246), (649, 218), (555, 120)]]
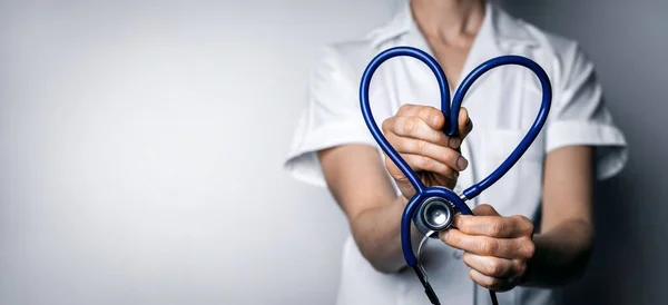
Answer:
[[(0, 304), (331, 303), (346, 223), (281, 166), (315, 48), (396, 3), (0, 1)], [(668, 2), (503, 3), (580, 40), (631, 146), (568, 303), (666, 302)]]

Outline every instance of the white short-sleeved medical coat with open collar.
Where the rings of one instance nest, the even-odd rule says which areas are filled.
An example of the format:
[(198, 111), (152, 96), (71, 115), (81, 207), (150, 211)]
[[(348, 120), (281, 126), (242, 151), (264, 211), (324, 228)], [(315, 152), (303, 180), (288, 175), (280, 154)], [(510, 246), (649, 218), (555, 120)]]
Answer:
[[(387, 48), (412, 46), (430, 51), (411, 16), (406, 1), (387, 24), (366, 37), (322, 48), (285, 164), (293, 177), (324, 187), (315, 151), (353, 142), (377, 147), (361, 115), (360, 79), (370, 60)], [(489, 203), (501, 215), (519, 214), (538, 222), (546, 154), (564, 146), (596, 146), (597, 177), (602, 179), (625, 166), (626, 140), (603, 105), (593, 65), (577, 42), (514, 19), (488, 3), (460, 80), (481, 62), (501, 55), (524, 56), (543, 67), (553, 88), (552, 108), (546, 127), (520, 161), (469, 205)], [(470, 165), (460, 175), (458, 193), (489, 175), (517, 146), (536, 118), (540, 88), (533, 73), (519, 66), (495, 68), (472, 86), (462, 104), (474, 125), (462, 144), (462, 154)], [(381, 66), (373, 77), (370, 97), (379, 126), (403, 104), (440, 108), (433, 73), (424, 63), (407, 57), (393, 58)], [(460, 250), (438, 239), (428, 243), (423, 252), (424, 267), (442, 304), (489, 304), (487, 289), (473, 284), (461, 257)], [(499, 294), (499, 302), (553, 304), (554, 295), (548, 289), (517, 287)], [(393, 275), (376, 272), (348, 237), (343, 249), (337, 304), (407, 305), (429, 301), (411, 269)]]

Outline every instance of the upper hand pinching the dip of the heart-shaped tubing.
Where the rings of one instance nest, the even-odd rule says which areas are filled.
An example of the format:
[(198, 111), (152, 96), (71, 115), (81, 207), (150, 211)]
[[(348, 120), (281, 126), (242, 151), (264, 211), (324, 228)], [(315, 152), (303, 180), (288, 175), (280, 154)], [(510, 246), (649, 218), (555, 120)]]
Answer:
[[(425, 186), (452, 189), (456, 185), (459, 173), (469, 165), (460, 152), (460, 145), (473, 124), (469, 112), (462, 107), (458, 124), (459, 137), (449, 138), (443, 132), (444, 125), (443, 112), (434, 107), (403, 105), (395, 116), (383, 121), (383, 134)], [(387, 156), (385, 166), (403, 196), (410, 199), (415, 189), (409, 179)]]

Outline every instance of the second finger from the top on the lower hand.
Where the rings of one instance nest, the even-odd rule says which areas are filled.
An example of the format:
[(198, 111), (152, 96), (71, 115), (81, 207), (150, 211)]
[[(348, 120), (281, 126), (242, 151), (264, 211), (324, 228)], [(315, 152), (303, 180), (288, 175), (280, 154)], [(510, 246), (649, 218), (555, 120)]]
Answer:
[(446, 245), (482, 256), (494, 256), (508, 259), (529, 259), (533, 257), (536, 245), (531, 237), (493, 238), (481, 235), (468, 235), (451, 228), (440, 234)]

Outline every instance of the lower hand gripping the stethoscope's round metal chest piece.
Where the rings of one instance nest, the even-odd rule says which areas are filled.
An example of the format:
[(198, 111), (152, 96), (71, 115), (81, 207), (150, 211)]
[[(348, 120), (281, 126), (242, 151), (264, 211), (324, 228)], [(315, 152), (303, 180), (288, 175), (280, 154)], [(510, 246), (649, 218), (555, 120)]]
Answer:
[(533, 257), (533, 223), (523, 216), (500, 216), (490, 205), (473, 209), (475, 216), (454, 216), (453, 228), (441, 232), (445, 244), (464, 250), (469, 275), (479, 285), (510, 291), (527, 275)]

